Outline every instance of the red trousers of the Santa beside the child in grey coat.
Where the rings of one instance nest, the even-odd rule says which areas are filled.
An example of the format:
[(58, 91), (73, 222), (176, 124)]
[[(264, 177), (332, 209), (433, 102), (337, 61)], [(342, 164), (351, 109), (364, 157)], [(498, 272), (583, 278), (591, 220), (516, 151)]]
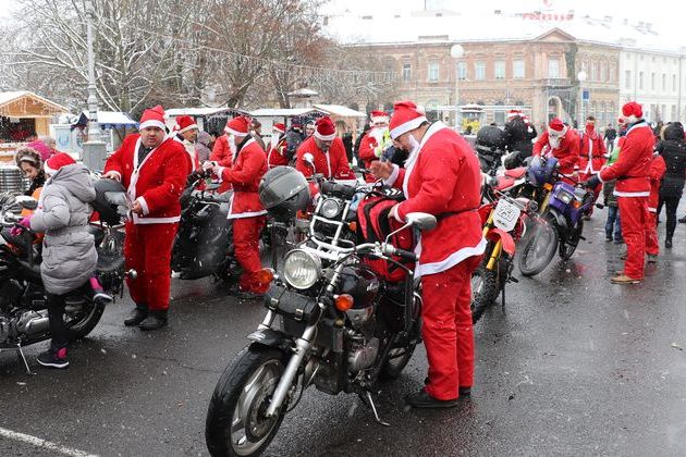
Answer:
[(179, 223), (134, 224), (126, 222), (124, 259), (126, 268), (136, 270), (135, 280), (127, 279), (131, 298), (147, 305), (151, 311), (169, 309), (171, 252)]

